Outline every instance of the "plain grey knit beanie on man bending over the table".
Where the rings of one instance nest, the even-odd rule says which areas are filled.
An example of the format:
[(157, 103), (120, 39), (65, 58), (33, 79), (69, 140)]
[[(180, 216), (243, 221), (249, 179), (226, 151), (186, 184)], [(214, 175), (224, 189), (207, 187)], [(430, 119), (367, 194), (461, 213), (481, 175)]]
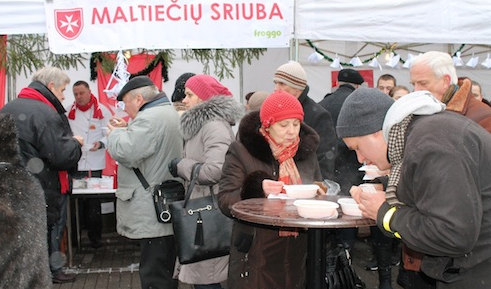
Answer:
[(394, 100), (378, 88), (360, 87), (343, 103), (338, 116), (338, 138), (369, 135), (382, 130)]

